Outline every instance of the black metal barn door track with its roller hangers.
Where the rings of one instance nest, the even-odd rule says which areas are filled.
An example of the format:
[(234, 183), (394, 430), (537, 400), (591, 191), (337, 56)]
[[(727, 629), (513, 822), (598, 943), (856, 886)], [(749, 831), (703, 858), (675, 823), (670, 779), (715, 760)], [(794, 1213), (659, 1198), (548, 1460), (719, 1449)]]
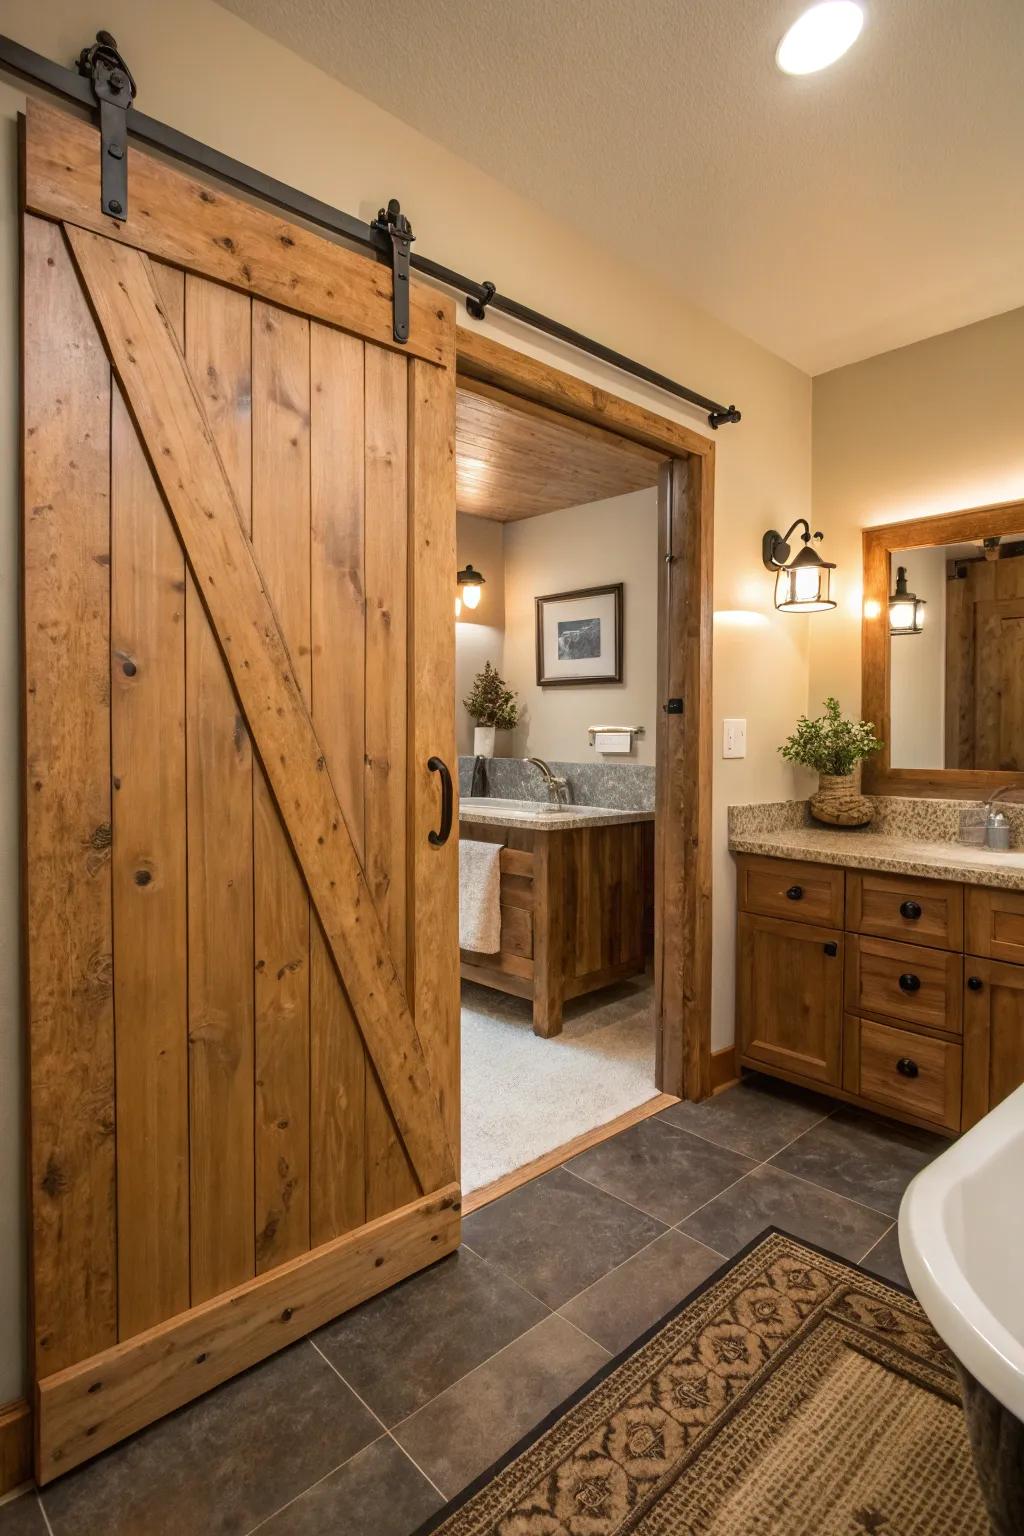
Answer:
[(97, 32), (95, 43), (83, 48), (78, 58), (78, 71), (64, 69), (61, 65), (55, 65), (51, 58), (43, 57), (43, 54), (35, 54), (31, 48), (15, 43), (11, 37), (0, 37), (0, 71), (18, 75), (21, 80), (31, 80), (34, 84), (63, 97), (66, 101), (75, 101), (80, 106), (98, 106), (101, 141), (100, 206), (107, 218), (123, 223), (127, 217), (127, 135), (130, 132), (140, 143), (149, 144), (152, 149), (172, 155), (186, 164), (197, 166), (232, 186), (243, 187), (246, 192), (252, 192), (255, 197), (275, 204), (275, 207), (281, 207), (310, 224), (318, 224), (321, 229), (329, 229), (332, 233), (372, 250), (378, 261), (387, 261), (393, 276), (393, 333), (398, 343), (408, 341), (408, 275), (410, 272), (421, 272), (434, 283), (462, 293), (467, 310), (476, 319), (484, 319), (488, 310), (499, 310), (502, 315), (530, 326), (531, 330), (554, 336), (556, 341), (565, 343), (576, 352), (597, 358), (620, 373), (629, 373), (633, 378), (642, 379), (645, 384), (652, 384), (676, 399), (683, 399), (689, 406), (699, 407), (706, 412), (708, 425), (712, 430), (740, 421), (740, 412), (735, 406), (723, 406), (708, 395), (700, 395), (697, 390), (668, 378), (668, 375), (659, 373), (643, 362), (637, 362), (636, 358), (628, 358), (625, 353), (606, 347), (602, 341), (594, 341), (591, 336), (573, 330), (571, 326), (565, 326), (550, 315), (542, 315), (536, 309), (530, 309), (527, 304), (499, 293), (494, 283), (477, 283), (474, 278), (467, 278), (462, 272), (445, 267), (439, 261), (431, 261), (430, 257), (413, 255), (413, 229), (407, 215), (402, 214), (398, 198), (391, 198), (373, 223), (367, 224), (352, 214), (345, 214), (342, 209), (332, 207), (329, 203), (310, 197), (307, 192), (299, 192), (298, 187), (292, 187), (275, 177), (264, 175), (263, 170), (246, 166), (241, 160), (232, 160), (230, 155), (223, 155), (218, 149), (212, 149), (197, 138), (189, 138), (187, 134), (178, 132), (177, 127), (170, 127), (167, 123), (160, 123), (157, 118), (143, 115), (132, 106), (135, 81), (109, 32)]

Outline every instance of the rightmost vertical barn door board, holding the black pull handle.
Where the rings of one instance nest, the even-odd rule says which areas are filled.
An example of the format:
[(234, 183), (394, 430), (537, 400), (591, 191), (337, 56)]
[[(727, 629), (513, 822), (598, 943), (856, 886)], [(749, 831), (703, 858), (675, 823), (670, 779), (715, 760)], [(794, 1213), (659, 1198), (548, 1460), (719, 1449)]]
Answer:
[[(454, 745), (454, 378), (410, 362), (410, 657), (408, 995), (441, 1114), (459, 1166), (459, 760)], [(431, 757), (448, 763), (454, 828), (444, 848), (428, 842), (441, 808)]]

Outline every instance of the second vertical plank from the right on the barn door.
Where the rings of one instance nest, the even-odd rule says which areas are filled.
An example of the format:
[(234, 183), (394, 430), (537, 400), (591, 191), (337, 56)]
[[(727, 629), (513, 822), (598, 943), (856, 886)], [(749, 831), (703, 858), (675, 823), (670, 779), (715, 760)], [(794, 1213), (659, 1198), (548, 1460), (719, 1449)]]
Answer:
[[(408, 364), (364, 350), (365, 389), (365, 879), (407, 978)], [(413, 1014), (415, 1017), (415, 1014)], [(376, 1074), (365, 1092), (367, 1217), (415, 1200), (419, 1184)]]

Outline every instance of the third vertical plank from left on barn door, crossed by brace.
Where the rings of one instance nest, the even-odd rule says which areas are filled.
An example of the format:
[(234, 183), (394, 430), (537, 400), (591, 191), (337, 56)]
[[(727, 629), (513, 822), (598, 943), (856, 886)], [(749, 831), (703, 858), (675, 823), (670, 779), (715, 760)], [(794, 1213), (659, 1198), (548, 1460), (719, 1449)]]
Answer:
[[(250, 531), (249, 300), (186, 278), (186, 359)], [(189, 1192), (192, 1304), (252, 1276), (252, 748), (192, 578), (186, 582)]]

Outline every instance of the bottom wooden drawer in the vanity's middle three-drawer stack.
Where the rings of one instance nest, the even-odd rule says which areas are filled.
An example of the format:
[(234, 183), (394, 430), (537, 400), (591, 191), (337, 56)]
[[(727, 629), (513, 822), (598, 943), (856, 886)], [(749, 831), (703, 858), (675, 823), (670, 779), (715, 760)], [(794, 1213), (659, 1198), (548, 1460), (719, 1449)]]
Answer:
[(844, 1087), (883, 1109), (960, 1130), (961, 1048), (872, 1018), (846, 1018)]

